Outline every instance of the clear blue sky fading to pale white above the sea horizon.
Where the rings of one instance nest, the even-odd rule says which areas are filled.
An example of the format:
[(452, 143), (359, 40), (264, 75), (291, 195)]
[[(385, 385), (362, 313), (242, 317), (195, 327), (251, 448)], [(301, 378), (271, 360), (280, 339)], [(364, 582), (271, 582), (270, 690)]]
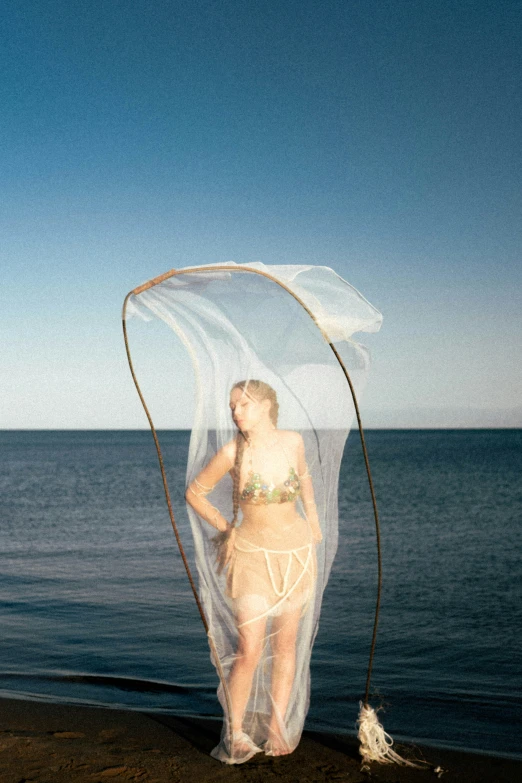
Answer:
[(0, 428), (145, 427), (123, 298), (227, 260), (331, 266), (382, 310), (367, 426), (520, 426), (521, 22), (518, 0), (6, 0)]

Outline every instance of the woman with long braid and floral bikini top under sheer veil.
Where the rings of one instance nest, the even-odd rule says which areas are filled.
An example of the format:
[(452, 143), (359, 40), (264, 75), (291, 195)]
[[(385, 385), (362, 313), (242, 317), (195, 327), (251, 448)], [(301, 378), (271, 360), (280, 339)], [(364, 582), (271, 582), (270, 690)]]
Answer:
[[(322, 533), (303, 439), (296, 432), (277, 429), (278, 408), (268, 384), (236, 383), (230, 409), (237, 436), (218, 451), (186, 493), (197, 514), (220, 531), (218, 567), (226, 571), (225, 595), (237, 628), (227, 683), (231, 741), (212, 752), (227, 763), (246, 761), (261, 750), (285, 755), (299, 741), (295, 726), (289, 726), (289, 702), (299, 628), (314, 596), (315, 544)], [(206, 497), (227, 473), (233, 480), (231, 523)], [(304, 517), (297, 511), (298, 499)], [(236, 530), (239, 510), (242, 519)], [(269, 670), (269, 715), (247, 710), (249, 702), (255, 704), (260, 661)], [(301, 729), (302, 721), (298, 735)]]

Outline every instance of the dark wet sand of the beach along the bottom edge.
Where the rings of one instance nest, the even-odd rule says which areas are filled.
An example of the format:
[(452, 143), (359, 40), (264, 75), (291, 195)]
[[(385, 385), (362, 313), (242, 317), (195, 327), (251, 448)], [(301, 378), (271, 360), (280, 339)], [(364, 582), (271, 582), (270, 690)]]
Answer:
[[(422, 770), (372, 764), (361, 772), (354, 738), (305, 732), (289, 756), (258, 754), (240, 766), (209, 756), (221, 724), (199, 718), (0, 699), (1, 783), (178, 783), (181, 781), (386, 781), (477, 783), (522, 780), (522, 762), (397, 746), (424, 757)], [(444, 770), (442, 774), (436, 768)]]

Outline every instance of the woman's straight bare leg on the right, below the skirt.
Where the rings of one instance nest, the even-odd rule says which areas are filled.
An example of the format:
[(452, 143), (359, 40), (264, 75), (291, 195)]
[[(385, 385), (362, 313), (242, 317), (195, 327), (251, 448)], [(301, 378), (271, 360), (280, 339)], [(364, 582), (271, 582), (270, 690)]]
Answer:
[(291, 753), (285, 741), (285, 716), (294, 684), (296, 640), (302, 607), (285, 612), (272, 620), (272, 717), (269, 747), (273, 756)]

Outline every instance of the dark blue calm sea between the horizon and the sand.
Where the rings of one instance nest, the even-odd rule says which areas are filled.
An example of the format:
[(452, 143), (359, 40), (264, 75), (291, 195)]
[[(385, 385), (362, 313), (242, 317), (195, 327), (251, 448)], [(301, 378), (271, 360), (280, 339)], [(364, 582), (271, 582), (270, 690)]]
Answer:
[[(190, 555), (188, 434), (164, 432)], [(522, 758), (522, 431), (370, 431), (384, 592), (374, 704), (395, 739)], [(0, 432), (0, 695), (219, 715), (148, 432)], [(376, 585), (357, 433), (307, 727), (354, 731)]]

